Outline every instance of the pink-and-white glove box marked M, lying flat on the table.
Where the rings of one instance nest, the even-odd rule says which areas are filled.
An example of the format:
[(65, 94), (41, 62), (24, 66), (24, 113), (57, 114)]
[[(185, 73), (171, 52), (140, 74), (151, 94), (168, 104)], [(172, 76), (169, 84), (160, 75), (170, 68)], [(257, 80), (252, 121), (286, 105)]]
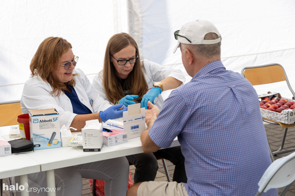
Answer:
[(116, 129), (106, 129), (106, 131), (102, 132), (102, 135), (105, 146), (114, 146), (117, 144), (123, 144), (128, 142), (127, 132), (124, 131)]

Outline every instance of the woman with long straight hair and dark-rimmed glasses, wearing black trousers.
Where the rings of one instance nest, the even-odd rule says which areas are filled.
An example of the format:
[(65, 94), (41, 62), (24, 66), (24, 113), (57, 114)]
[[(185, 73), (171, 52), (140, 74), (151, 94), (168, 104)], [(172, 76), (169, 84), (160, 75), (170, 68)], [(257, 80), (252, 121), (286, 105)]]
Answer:
[[(119, 33), (109, 39), (104, 68), (96, 74), (92, 84), (99, 95), (112, 104), (128, 106), (140, 102), (141, 107), (147, 109), (148, 101), (162, 108), (161, 92), (174, 89), (184, 81), (180, 70), (163, 67), (147, 59), (140, 60), (135, 40), (127, 33)], [(126, 156), (136, 167), (135, 183), (155, 180), (158, 170), (156, 156), (175, 165), (173, 181), (186, 182), (184, 157), (179, 146)]]

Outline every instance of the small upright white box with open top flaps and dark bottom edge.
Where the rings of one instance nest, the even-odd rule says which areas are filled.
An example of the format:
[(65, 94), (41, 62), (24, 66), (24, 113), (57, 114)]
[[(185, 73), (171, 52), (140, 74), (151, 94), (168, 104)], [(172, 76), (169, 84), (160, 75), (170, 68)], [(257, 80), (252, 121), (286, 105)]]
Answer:
[(101, 151), (103, 147), (102, 141), (102, 124), (95, 120), (87, 120), (84, 128), (82, 128), (83, 135), (83, 151)]

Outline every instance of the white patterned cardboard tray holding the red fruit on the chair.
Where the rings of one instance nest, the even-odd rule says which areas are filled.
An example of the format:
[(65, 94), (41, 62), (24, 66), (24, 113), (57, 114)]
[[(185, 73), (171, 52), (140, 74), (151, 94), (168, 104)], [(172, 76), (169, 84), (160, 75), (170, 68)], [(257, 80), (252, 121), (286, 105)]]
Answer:
[[(280, 99), (283, 99), (281, 97), (281, 94), (278, 92), (268, 92), (263, 94), (258, 94), (259, 101), (263, 100), (265, 97), (268, 97), (269, 99), (272, 99), (273, 97), (278, 97)], [(288, 101), (293, 99), (287, 99)], [(295, 100), (293, 100), (295, 102)], [(263, 118), (274, 120), (277, 122), (281, 122), (284, 124), (293, 124), (295, 122), (295, 115), (294, 115), (294, 109), (286, 109), (283, 110), (281, 113), (270, 111), (267, 109), (260, 108), (260, 113)]]

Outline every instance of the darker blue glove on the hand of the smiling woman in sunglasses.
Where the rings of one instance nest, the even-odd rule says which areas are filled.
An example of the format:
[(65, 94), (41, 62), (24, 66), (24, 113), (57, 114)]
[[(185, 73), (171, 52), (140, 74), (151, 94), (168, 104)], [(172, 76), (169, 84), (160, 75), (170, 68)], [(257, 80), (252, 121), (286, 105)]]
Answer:
[[(119, 109), (123, 107), (122, 109)], [(123, 117), (123, 112), (127, 110), (127, 107), (123, 104), (117, 104), (109, 107), (104, 111), (99, 111), (99, 117), (103, 122), (106, 122), (108, 119), (115, 119)]]

